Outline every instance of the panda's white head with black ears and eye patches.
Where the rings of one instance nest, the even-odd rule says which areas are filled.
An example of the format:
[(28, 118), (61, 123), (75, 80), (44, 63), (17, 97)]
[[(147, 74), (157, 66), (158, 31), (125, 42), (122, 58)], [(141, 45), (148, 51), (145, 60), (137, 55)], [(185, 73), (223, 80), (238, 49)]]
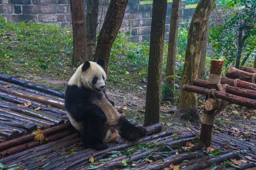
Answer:
[(88, 89), (101, 92), (106, 86), (106, 73), (102, 68), (104, 65), (103, 59), (99, 59), (97, 62), (86, 61), (83, 63), (80, 75), (82, 85)]

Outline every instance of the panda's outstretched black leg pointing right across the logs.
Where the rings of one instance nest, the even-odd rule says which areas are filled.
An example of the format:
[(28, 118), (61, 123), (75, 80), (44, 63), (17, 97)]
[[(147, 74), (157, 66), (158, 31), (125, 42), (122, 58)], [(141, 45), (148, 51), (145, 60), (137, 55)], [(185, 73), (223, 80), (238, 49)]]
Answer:
[(140, 137), (146, 136), (146, 129), (135, 127), (123, 116), (119, 118), (119, 128), (121, 136), (127, 139), (138, 139)]

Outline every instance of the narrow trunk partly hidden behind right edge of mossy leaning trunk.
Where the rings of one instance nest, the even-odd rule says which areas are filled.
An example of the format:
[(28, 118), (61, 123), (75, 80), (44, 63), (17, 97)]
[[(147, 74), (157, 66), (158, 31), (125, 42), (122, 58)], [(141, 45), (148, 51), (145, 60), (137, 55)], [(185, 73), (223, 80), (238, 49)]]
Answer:
[(209, 21), (206, 24), (205, 34), (203, 35), (201, 58), (200, 58), (200, 63), (198, 68), (198, 78), (201, 80), (204, 80), (204, 76), (205, 76), (205, 60), (206, 60), (206, 51), (207, 51), (208, 28), (209, 28)]

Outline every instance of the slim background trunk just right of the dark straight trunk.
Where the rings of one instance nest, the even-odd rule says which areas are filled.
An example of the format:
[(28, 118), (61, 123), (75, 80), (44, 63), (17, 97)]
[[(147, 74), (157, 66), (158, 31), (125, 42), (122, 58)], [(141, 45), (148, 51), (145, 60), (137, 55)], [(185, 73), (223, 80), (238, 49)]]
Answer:
[(173, 0), (172, 14), (170, 21), (169, 31), (169, 43), (168, 43), (168, 54), (166, 62), (166, 74), (165, 76), (172, 76), (165, 79), (165, 85), (172, 89), (171, 93), (164, 94), (164, 101), (170, 101), (174, 103), (174, 84), (175, 84), (175, 64), (176, 64), (176, 53), (177, 53), (177, 36), (179, 28), (179, 18), (181, 10), (181, 0)]

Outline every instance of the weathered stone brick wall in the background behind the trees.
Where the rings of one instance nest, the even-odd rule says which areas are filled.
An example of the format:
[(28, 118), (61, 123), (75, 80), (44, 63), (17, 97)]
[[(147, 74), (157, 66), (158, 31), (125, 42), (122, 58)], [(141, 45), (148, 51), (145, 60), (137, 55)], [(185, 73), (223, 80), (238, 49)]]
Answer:
[[(193, 15), (193, 11), (184, 12), (184, 7), (185, 1), (182, 1), (180, 23), (184, 18), (190, 20)], [(107, 8), (108, 3), (100, 4), (98, 26), (102, 26)], [(169, 37), (171, 9), (172, 2), (167, 6), (165, 40)], [(55, 26), (72, 27), (69, 0), (0, 0), (0, 15), (11, 22), (32, 20), (39, 24), (51, 23)], [(133, 41), (149, 41), (151, 17), (152, 4), (140, 4), (140, 0), (128, 0), (120, 31), (129, 31)]]

